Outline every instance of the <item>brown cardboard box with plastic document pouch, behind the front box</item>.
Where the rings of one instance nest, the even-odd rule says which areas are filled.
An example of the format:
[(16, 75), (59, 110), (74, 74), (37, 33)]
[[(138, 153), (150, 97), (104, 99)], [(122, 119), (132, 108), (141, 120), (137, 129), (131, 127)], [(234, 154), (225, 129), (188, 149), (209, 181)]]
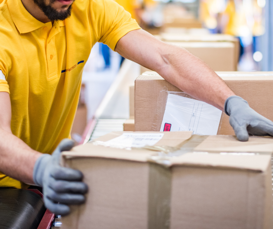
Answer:
[[(273, 72), (217, 72), (217, 74), (236, 95), (248, 101), (251, 108), (273, 121)], [(136, 131), (153, 130), (156, 111), (162, 115), (163, 119), (164, 103), (159, 109), (157, 101), (162, 96), (161, 91), (164, 89), (181, 92), (155, 72), (146, 72), (135, 80)], [(159, 131), (160, 128), (155, 130)], [(222, 113), (218, 134), (235, 134), (229, 124), (229, 116), (224, 112)]]

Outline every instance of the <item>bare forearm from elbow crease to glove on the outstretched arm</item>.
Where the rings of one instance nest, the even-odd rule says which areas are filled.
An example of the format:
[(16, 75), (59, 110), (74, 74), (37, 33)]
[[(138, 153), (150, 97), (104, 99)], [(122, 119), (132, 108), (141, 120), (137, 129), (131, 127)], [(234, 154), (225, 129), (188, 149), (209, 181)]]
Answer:
[(162, 63), (155, 69), (182, 91), (221, 110), (234, 92), (202, 60), (187, 50), (166, 44), (161, 47)]

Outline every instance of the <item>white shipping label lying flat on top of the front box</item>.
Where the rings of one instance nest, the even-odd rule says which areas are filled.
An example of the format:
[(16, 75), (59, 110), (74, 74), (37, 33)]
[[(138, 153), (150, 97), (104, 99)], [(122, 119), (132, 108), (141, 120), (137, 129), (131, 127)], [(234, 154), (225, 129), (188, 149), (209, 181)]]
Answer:
[(121, 136), (115, 137), (105, 143), (110, 147), (118, 148), (153, 146), (163, 135), (164, 133), (123, 133)]

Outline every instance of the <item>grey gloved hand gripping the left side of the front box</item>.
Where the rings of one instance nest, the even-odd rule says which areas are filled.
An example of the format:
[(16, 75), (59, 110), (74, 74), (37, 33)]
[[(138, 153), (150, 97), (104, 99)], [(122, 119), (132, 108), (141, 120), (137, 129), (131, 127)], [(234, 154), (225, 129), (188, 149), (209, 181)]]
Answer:
[(68, 205), (84, 203), (88, 189), (81, 182), (83, 175), (80, 171), (59, 165), (61, 152), (70, 150), (73, 145), (73, 141), (63, 139), (52, 155), (41, 155), (33, 169), (35, 184), (43, 187), (46, 208), (57, 215), (69, 214)]

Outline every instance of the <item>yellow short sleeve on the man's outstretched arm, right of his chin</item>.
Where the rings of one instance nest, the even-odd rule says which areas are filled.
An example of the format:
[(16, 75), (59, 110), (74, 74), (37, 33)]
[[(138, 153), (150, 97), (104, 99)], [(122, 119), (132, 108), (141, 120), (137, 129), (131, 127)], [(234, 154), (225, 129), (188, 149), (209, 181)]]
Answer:
[(100, 37), (98, 42), (107, 44), (112, 50), (115, 49), (116, 43), (132, 30), (140, 29), (131, 14), (124, 10), (118, 3), (112, 0), (103, 0), (104, 15), (102, 22), (98, 23), (100, 28)]

